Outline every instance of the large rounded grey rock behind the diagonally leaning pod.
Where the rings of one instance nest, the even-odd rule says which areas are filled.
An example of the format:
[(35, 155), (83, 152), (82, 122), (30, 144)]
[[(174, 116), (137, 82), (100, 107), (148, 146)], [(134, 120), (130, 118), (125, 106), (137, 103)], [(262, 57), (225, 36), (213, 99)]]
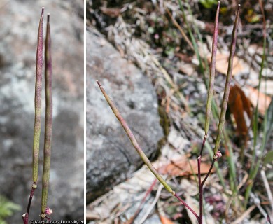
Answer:
[(94, 28), (87, 29), (87, 202), (143, 164), (97, 86), (118, 106), (148, 158), (163, 137), (153, 85)]

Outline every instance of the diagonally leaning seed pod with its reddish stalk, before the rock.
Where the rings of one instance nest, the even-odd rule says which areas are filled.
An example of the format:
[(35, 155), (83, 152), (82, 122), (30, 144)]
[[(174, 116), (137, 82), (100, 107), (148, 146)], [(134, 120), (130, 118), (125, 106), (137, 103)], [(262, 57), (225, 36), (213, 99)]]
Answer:
[(129, 137), (132, 145), (136, 149), (137, 153), (139, 153), (139, 156), (144, 161), (146, 166), (151, 170), (151, 172), (155, 175), (155, 177), (158, 179), (158, 181), (160, 181), (160, 183), (166, 188), (166, 190), (169, 191), (169, 193), (171, 193), (172, 195), (174, 195), (174, 197), (176, 197), (182, 204), (184, 204), (193, 213), (193, 215), (197, 218), (197, 220), (199, 221), (199, 216), (195, 213), (195, 211), (193, 211), (193, 209), (184, 200), (182, 200), (179, 197), (179, 195), (177, 195), (175, 193), (174, 190), (172, 190), (172, 188), (167, 184), (167, 182), (162, 178), (162, 176), (160, 176), (160, 174), (155, 169), (155, 167), (153, 167), (151, 161), (148, 159), (148, 157), (145, 155), (144, 151), (139, 146), (139, 144), (137, 142), (137, 139), (134, 137), (134, 134), (130, 130), (130, 127), (127, 125), (125, 119), (123, 118), (123, 116), (121, 116), (120, 112), (118, 111), (116, 105), (113, 103), (113, 101), (111, 100), (109, 95), (105, 92), (104, 88), (99, 83), (99, 81), (97, 81), (97, 84), (99, 85), (99, 88), (102, 91), (102, 94), (104, 94), (104, 97), (105, 97), (106, 101), (108, 102), (109, 106), (111, 107), (111, 109), (112, 109), (113, 113), (115, 114), (116, 118), (118, 118), (118, 121), (120, 122), (120, 125), (123, 126), (123, 129), (125, 130), (127, 136)]

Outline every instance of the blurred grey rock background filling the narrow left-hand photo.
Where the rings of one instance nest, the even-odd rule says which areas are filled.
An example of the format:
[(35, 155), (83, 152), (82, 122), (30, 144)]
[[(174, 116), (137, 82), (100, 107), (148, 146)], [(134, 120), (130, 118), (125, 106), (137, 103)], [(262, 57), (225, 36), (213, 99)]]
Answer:
[[(83, 221), (83, 7), (84, 1), (0, 1), (0, 195), (22, 210), (32, 183), (34, 85), (38, 21), (50, 13), (53, 60), (52, 161), (48, 206), (53, 220)], [(44, 78), (43, 78), (44, 81)], [(40, 219), (45, 94), (43, 94), (38, 190), (30, 219)]]

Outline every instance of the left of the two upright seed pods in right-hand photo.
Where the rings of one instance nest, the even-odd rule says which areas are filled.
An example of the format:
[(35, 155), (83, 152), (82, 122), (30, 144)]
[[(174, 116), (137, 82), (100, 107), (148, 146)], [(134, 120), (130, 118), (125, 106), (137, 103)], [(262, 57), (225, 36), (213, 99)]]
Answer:
[(211, 67), (209, 71), (209, 90), (207, 99), (207, 109), (206, 109), (206, 122), (205, 122), (205, 136), (209, 132), (209, 120), (211, 116), (211, 102), (214, 94), (214, 78), (216, 71), (216, 53), (217, 53), (217, 43), (218, 43), (218, 26), (219, 26), (219, 11), (220, 11), (220, 1), (218, 1), (218, 7), (216, 11), (216, 17), (214, 22), (214, 37), (212, 41), (212, 54), (211, 54)]

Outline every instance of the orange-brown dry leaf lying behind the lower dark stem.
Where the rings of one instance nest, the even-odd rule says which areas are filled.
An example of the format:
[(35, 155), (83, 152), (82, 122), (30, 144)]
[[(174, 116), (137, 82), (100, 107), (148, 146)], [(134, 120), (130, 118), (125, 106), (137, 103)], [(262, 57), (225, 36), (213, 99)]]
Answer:
[[(201, 162), (201, 174), (207, 174), (211, 165)], [(160, 167), (161, 174), (169, 174), (174, 176), (186, 176), (191, 174), (198, 174), (197, 160), (189, 160), (185, 155), (177, 160), (172, 160), (168, 165)], [(215, 172), (212, 169), (211, 172)]]

